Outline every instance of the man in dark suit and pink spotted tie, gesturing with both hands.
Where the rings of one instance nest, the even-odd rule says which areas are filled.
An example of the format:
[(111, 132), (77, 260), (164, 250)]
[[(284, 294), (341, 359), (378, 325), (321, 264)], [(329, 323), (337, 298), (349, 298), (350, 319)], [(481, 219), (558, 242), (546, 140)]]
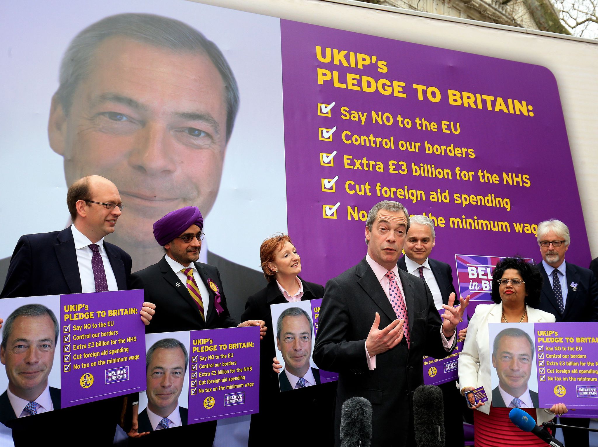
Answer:
[[(341, 406), (353, 396), (370, 400), (372, 445), (414, 445), (413, 391), (423, 384), (423, 356), (443, 358), (456, 342), (468, 299), (443, 304), (444, 322), (425, 281), (399, 270), (407, 210), (382, 201), (368, 213), (367, 255), (328, 281), (313, 358), (338, 372), (335, 445), (340, 445)], [(380, 329), (382, 327), (382, 329)], [(388, 430), (401, 418), (401, 430)]]

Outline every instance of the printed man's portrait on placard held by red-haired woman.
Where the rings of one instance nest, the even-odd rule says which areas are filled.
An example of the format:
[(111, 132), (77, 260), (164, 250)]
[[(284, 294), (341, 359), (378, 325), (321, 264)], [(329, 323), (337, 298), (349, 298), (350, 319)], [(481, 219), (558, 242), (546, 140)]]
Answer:
[(276, 323), (276, 345), (285, 360), (280, 372), (280, 391), (320, 384), (320, 372), (310, 367), (313, 324), (306, 311), (289, 307), (282, 311)]

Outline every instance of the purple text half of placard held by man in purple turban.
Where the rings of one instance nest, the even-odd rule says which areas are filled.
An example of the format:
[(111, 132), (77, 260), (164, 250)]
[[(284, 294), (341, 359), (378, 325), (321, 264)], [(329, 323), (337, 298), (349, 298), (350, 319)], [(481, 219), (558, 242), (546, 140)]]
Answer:
[(229, 327), (189, 333), (188, 424), (260, 409), (260, 328)]

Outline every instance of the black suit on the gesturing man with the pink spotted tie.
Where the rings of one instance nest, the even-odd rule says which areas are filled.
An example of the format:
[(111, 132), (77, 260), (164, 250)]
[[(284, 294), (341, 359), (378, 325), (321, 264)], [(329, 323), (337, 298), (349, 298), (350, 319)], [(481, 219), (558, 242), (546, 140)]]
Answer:
[[(365, 339), (380, 314), (380, 328), (396, 320), (396, 314), (367, 261), (362, 259), (326, 284), (319, 317), (313, 359), (319, 368), (338, 376), (335, 445), (340, 445), (341, 406), (350, 397), (370, 400), (373, 408), (372, 445), (404, 446), (413, 442), (413, 391), (423, 384), (423, 356), (446, 357), (441, 318), (425, 281), (398, 270), (407, 304), (411, 348), (405, 338), (376, 356), (376, 369), (367, 366)], [(454, 345), (453, 345), (454, 347)], [(400, 415), (401, 430), (388, 430)]]

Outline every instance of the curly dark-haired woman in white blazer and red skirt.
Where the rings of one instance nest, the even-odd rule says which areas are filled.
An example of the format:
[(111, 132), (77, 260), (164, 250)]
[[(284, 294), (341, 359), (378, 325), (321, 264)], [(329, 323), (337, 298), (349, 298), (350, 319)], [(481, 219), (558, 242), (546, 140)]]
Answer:
[[(459, 355), (461, 392), (465, 394), (466, 391), (484, 387), (488, 397), (486, 403), (478, 403), (474, 406), (475, 447), (546, 445), (533, 434), (521, 431), (509, 420), (508, 412), (512, 406), (521, 405), (521, 401), (517, 400), (516, 404), (509, 401), (507, 405), (510, 404), (511, 408), (492, 406), (493, 393), (490, 381), (492, 353), (489, 348), (488, 334), (488, 323), (554, 322), (553, 314), (535, 308), (539, 304), (541, 289), (542, 274), (535, 265), (521, 258), (502, 259), (496, 265), (492, 275), (492, 300), (496, 304), (478, 305), (469, 322), (463, 351)], [(527, 368), (531, 368), (531, 365)], [(533, 391), (530, 393), (533, 396), (532, 402), (537, 402), (537, 394)], [(498, 388), (495, 390), (495, 397), (502, 400)], [(562, 403), (553, 405), (551, 409), (523, 409), (532, 415), (538, 424), (550, 421), (554, 415), (567, 411)]]

